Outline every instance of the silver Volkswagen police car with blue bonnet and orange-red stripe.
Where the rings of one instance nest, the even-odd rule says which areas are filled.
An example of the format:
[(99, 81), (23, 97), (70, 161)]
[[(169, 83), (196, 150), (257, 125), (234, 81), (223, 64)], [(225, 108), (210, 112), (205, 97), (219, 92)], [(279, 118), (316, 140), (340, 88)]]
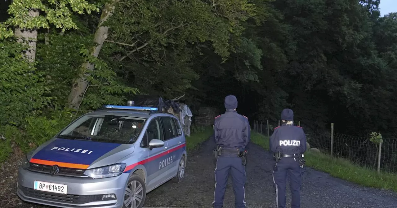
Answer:
[(146, 194), (185, 173), (179, 120), (157, 108), (106, 105), (27, 154), (17, 194), (64, 208), (141, 208)]

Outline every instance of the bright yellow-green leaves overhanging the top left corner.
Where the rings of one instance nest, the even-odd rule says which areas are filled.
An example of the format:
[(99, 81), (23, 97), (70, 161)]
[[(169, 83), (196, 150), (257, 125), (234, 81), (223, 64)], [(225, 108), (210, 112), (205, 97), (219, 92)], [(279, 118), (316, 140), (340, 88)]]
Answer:
[[(12, 16), (0, 25), (0, 40), (13, 35), (11, 26), (34, 29), (50, 28), (50, 25), (54, 25), (62, 28), (62, 31), (77, 29), (70, 9), (79, 14), (99, 11), (96, 5), (89, 4), (86, 0), (13, 0), (8, 9)], [(33, 17), (30, 13), (32, 10), (40, 10), (42, 14)]]

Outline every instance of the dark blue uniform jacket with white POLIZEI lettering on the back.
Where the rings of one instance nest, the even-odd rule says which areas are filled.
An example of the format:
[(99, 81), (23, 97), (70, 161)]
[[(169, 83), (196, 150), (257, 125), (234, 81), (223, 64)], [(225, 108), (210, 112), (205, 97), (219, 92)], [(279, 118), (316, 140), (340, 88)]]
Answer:
[(282, 124), (274, 128), (269, 145), (273, 153), (303, 154), (306, 151), (306, 134), (301, 126)]

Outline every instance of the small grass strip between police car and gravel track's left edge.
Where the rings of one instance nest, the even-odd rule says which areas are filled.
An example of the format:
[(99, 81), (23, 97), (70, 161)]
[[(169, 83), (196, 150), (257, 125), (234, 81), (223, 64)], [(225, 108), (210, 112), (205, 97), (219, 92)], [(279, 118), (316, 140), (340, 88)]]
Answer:
[(191, 126), (190, 130), (190, 137), (186, 137), (187, 151), (196, 150), (198, 147), (200, 147), (201, 143), (206, 141), (208, 137), (214, 134), (214, 130), (211, 127)]

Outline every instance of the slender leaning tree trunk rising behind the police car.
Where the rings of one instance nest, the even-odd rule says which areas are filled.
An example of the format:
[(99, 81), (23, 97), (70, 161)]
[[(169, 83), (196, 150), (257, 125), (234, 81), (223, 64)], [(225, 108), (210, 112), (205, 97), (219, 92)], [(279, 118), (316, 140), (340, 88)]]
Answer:
[[(108, 37), (109, 28), (102, 26), (102, 24), (112, 16), (114, 12), (115, 3), (117, 0), (113, 0), (112, 2), (105, 4), (102, 14), (100, 16), (100, 21), (98, 24), (98, 28), (94, 34), (94, 41), (97, 43), (91, 50), (91, 55), (94, 57), (98, 57), (99, 52), (102, 48), (103, 43), (105, 42), (106, 38)], [(88, 61), (81, 65), (83, 69), (87, 69), (87, 73), (81, 74), (79, 78), (76, 78), (73, 82), (69, 98), (68, 104), (70, 108), (78, 109), (80, 103), (83, 99), (83, 94), (88, 87), (87, 77), (91, 75), (91, 72), (94, 70), (94, 65), (89, 63)]]

